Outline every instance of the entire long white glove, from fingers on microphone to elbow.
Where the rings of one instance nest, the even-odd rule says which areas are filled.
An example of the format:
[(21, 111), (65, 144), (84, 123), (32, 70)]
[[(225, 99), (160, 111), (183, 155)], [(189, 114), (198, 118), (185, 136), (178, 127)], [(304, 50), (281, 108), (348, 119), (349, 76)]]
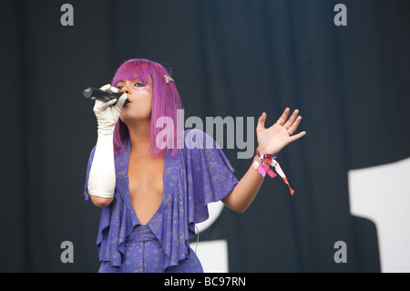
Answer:
[[(118, 92), (118, 88), (105, 85), (102, 90)], [(94, 113), (97, 117), (97, 145), (94, 160), (89, 171), (88, 193), (90, 195), (112, 198), (116, 188), (116, 169), (114, 163), (113, 132), (118, 122), (127, 94), (122, 94), (115, 106), (116, 99), (108, 102), (96, 100)]]

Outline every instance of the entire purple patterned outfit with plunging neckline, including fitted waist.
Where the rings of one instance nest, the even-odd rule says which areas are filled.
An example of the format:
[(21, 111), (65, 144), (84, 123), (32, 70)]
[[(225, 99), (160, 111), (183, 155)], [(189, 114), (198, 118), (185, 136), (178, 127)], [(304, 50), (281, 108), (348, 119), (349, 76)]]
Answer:
[[(202, 272), (190, 248), (195, 223), (207, 220), (207, 204), (228, 195), (238, 180), (209, 135), (186, 130), (185, 137), (179, 155), (164, 158), (162, 201), (146, 225), (139, 223), (129, 196), (129, 139), (124, 151), (115, 155), (115, 198), (102, 209), (97, 234), (99, 272)], [(94, 151), (87, 166), (86, 200)]]

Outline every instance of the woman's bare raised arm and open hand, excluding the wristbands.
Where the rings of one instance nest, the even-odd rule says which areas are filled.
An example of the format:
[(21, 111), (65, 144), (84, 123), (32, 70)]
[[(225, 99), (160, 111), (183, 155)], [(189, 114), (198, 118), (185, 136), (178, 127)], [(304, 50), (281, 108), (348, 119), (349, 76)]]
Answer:
[[(299, 110), (296, 109), (293, 111), (289, 120), (287, 120), (289, 112), (290, 109), (285, 109), (281, 118), (268, 129), (265, 129), (264, 126), (266, 113), (262, 113), (256, 127), (258, 148), (262, 153), (277, 154), (286, 145), (302, 138), (302, 136), (306, 134), (305, 131), (302, 131), (296, 135), (292, 135), (298, 128), (302, 117), (298, 116)], [(260, 162), (259, 156), (256, 156), (255, 160)], [(222, 202), (236, 212), (245, 212), (259, 192), (263, 179), (261, 173), (251, 165), (231, 193), (222, 199)]]

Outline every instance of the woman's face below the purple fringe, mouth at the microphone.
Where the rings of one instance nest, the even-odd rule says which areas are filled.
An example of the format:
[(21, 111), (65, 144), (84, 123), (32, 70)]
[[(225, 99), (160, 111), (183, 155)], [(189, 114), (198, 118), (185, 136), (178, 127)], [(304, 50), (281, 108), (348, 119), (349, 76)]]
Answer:
[(138, 79), (118, 82), (117, 88), (128, 94), (128, 104), (121, 110), (119, 118), (128, 126), (134, 122), (150, 120), (152, 111), (152, 79), (144, 84)]

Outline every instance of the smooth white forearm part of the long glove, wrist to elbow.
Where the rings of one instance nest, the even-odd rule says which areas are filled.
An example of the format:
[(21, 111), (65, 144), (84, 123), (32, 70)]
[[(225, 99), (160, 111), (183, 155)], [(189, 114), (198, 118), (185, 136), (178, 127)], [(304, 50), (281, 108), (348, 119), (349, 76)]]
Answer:
[(116, 188), (113, 135), (98, 132), (96, 151), (88, 177), (88, 193), (111, 198)]

